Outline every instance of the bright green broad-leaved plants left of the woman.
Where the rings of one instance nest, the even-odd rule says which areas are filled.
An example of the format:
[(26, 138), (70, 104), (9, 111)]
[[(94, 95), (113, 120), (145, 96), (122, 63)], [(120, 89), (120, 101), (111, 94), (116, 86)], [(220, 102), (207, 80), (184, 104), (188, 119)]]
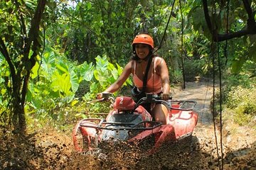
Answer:
[[(65, 109), (69, 108), (69, 112), (75, 112), (70, 108), (81, 106), (80, 102), (87, 103), (95, 99), (97, 93), (110, 86), (122, 73), (122, 67), (119, 64), (114, 67), (114, 64), (107, 61), (107, 56), (97, 56), (95, 60), (96, 64), (92, 62), (75, 64), (60, 52), (46, 48), (41, 64), (37, 63), (32, 69), (26, 113), (37, 120), (47, 118), (63, 121), (66, 115)], [(87, 91), (78, 91), (81, 82), (85, 82), (84, 85), (90, 88)], [(132, 84), (132, 81), (127, 80), (124, 86), (127, 84)], [(77, 92), (85, 94), (84, 101), (79, 102), (79, 98), (75, 98)], [(82, 116), (82, 113), (88, 112), (108, 112), (108, 106), (109, 103), (103, 106), (100, 103), (92, 103), (92, 105), (86, 105), (87, 108), (77, 115)]]

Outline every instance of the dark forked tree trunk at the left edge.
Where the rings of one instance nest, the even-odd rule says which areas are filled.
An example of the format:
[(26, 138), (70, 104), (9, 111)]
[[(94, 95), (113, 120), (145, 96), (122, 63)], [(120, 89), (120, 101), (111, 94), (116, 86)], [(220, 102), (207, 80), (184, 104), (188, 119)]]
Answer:
[[(30, 77), (31, 69), (36, 64), (36, 57), (39, 55), (38, 53), (41, 50), (40, 43), (40, 24), (43, 18), (43, 11), (46, 7), (47, 0), (38, 0), (38, 5), (36, 7), (36, 11), (31, 18), (31, 26), (28, 31), (28, 36), (25, 38), (25, 46), (23, 50), (21, 50), (21, 64), (15, 64), (12, 57), (16, 57), (14, 53), (10, 53), (7, 50), (6, 44), (8, 42), (4, 42), (2, 38), (0, 38), (0, 52), (4, 55), (4, 58), (9, 64), (10, 72), (11, 72), (11, 120), (12, 125), (14, 126), (14, 131), (20, 132), (21, 134), (26, 133), (26, 116), (25, 116), (25, 103), (26, 103), (26, 92), (28, 88), (28, 79)], [(16, 1), (16, 7), (20, 8), (18, 2)], [(21, 19), (21, 27), (23, 28), (23, 32), (21, 31), (21, 35), (26, 34), (26, 25), (23, 21), (23, 17)], [(23, 41), (23, 39), (22, 39)], [(23, 42), (21, 42), (23, 44)], [(19, 48), (19, 47), (16, 47)], [(18, 50), (19, 51), (19, 50)], [(30, 56), (30, 52), (32, 51), (32, 55)], [(20, 51), (19, 51), (20, 52)], [(27, 74), (23, 75), (23, 70), (26, 69)]]

